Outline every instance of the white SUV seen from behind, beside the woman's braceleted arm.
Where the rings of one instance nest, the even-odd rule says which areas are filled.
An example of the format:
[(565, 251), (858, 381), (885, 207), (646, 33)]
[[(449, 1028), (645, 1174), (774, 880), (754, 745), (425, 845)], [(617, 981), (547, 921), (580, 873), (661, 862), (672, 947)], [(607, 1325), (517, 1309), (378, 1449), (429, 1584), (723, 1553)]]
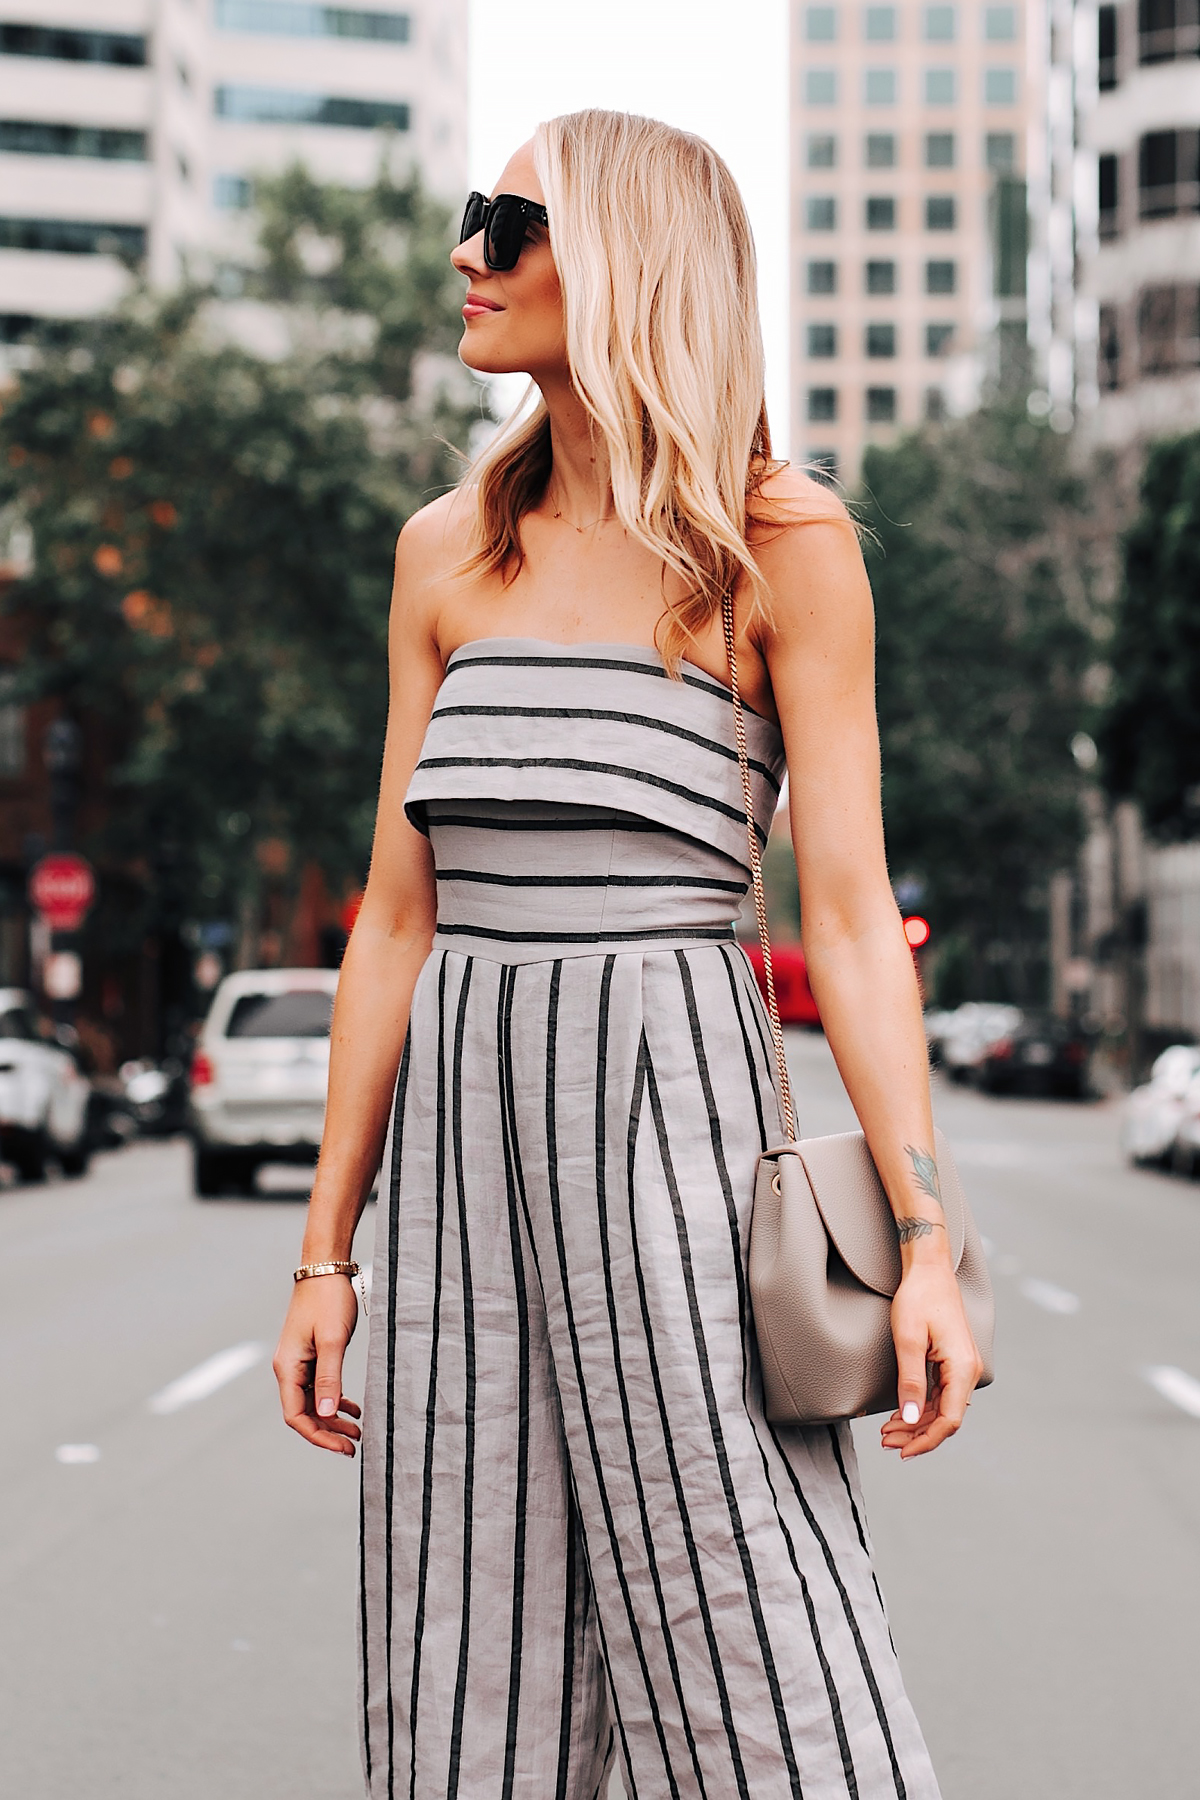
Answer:
[(263, 1163), (313, 1163), (326, 1125), (335, 968), (225, 976), (191, 1066), (201, 1199), (252, 1193)]

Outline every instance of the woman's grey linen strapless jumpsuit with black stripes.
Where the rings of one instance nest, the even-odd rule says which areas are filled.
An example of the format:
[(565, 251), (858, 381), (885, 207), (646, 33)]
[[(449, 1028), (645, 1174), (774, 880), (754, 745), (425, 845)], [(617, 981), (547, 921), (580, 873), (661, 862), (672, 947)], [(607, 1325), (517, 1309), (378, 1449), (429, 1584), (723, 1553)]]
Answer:
[[(747, 715), (756, 817), (783, 778)], [(732, 932), (729, 691), (466, 644), (405, 810), (437, 934), (380, 1186), (362, 1458), (371, 1800), (936, 1800), (846, 1426), (763, 1413), (783, 1134)]]

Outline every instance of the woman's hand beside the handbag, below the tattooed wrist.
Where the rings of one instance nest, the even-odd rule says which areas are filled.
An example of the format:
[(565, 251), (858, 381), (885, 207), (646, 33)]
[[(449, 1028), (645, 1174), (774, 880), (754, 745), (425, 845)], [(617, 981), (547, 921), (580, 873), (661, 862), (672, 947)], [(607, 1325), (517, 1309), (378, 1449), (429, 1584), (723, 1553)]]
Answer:
[(948, 1260), (909, 1264), (892, 1300), (892, 1339), (900, 1406), (883, 1426), (883, 1449), (907, 1460), (954, 1436), (982, 1375)]

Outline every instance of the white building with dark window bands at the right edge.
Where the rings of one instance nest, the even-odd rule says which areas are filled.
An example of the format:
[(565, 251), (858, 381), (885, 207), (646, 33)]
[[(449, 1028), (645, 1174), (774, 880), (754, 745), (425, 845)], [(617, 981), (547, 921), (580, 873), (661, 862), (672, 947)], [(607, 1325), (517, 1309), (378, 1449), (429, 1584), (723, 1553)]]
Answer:
[(1085, 432), (1115, 448), (1200, 428), (1200, 11), (1081, 13)]

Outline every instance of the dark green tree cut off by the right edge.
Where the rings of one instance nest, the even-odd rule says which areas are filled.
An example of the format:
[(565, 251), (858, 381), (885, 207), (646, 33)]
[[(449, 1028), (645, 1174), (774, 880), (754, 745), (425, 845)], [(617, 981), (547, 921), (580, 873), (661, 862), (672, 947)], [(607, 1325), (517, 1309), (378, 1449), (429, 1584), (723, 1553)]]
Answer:
[(1164, 837), (1200, 828), (1200, 432), (1150, 448), (1124, 536), (1099, 727), (1105, 785)]

